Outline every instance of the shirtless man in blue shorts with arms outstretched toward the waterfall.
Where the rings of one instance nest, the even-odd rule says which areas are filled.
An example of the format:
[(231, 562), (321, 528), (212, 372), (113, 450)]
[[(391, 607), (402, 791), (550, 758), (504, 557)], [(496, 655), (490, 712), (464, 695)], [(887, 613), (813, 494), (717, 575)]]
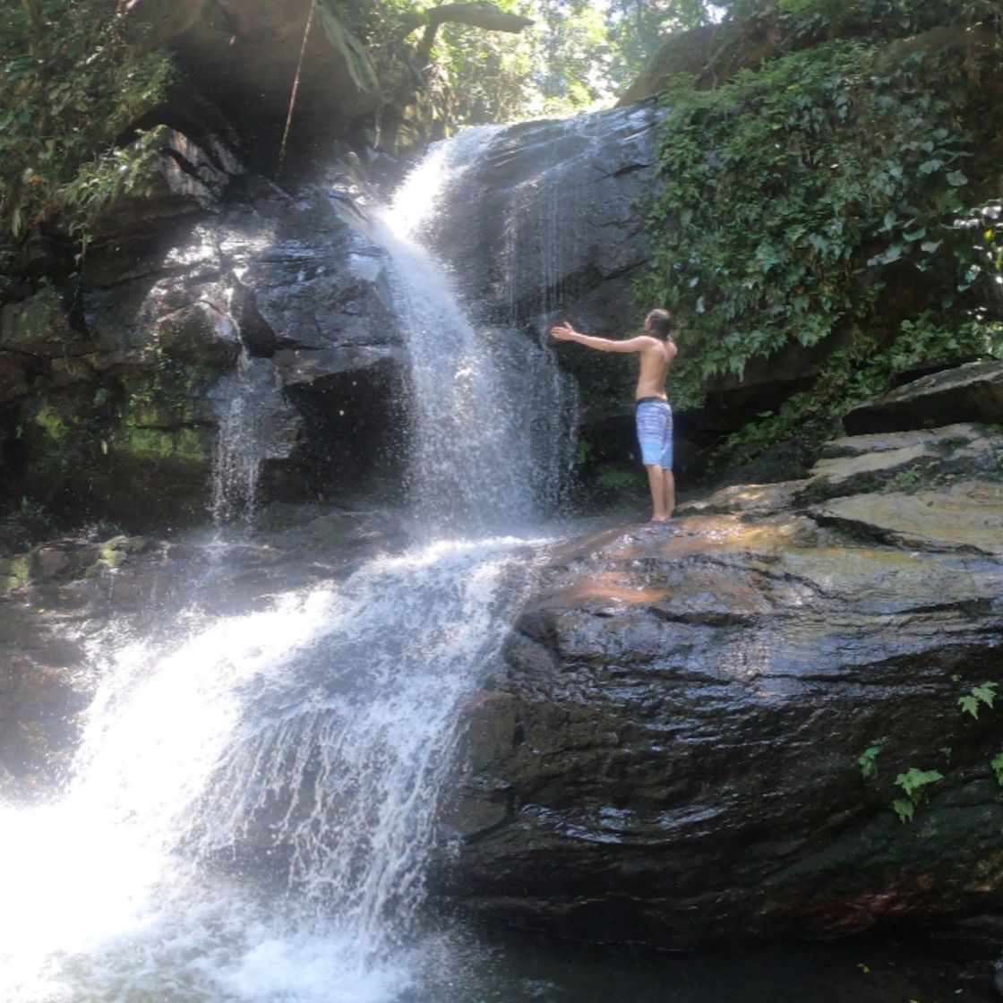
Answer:
[(672, 340), (672, 315), (668, 310), (652, 310), (644, 321), (644, 334), (624, 341), (595, 338), (581, 334), (567, 321), (551, 328), (560, 341), (577, 341), (600, 352), (637, 352), (641, 372), (634, 392), (637, 437), (641, 444), (641, 462), (648, 471), (651, 487), (653, 523), (664, 523), (676, 507), (676, 482), (672, 475), (672, 408), (665, 392), (669, 369), (676, 357)]

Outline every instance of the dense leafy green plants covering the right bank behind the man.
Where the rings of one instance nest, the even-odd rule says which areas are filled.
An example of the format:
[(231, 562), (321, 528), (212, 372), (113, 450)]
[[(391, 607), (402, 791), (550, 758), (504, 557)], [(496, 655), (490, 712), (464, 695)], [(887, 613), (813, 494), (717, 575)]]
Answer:
[[(728, 444), (731, 460), (805, 424), (827, 432), (848, 404), (917, 365), (984, 355), (1003, 304), (1003, 210), (990, 197), (999, 193), (973, 182), (995, 181), (985, 77), (999, 36), (977, 46), (944, 28), (992, 20), (998, 31), (994, 9), (960, 0), (732, 8), (787, 39), (820, 41), (714, 90), (681, 81), (667, 95), (663, 188), (648, 216), (654, 263), (638, 299), (676, 315), (684, 407), (787, 346), (843, 347), (822, 352), (809, 391)], [(938, 24), (946, 34), (895, 40)], [(909, 272), (923, 273), (910, 283), (918, 295), (889, 311), (882, 294)], [(998, 351), (998, 324), (993, 337)]]

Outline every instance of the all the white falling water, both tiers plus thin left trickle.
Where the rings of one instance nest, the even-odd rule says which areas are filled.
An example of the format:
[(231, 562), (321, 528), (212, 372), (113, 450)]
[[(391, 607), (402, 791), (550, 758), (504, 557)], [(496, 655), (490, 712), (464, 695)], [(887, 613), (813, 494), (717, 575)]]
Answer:
[[(254, 612), (189, 603), (144, 637), (123, 618), (86, 639), (101, 682), (63, 789), (0, 805), (0, 999), (466, 1003), (427, 995), (424, 871), (458, 709), (543, 543), (497, 532), (539, 523), (570, 441), (547, 354), (471, 324), (414, 243), (411, 210), (442, 193), (420, 179), (479, 141), (433, 153), (376, 228), (410, 338), (426, 539)], [(253, 508), (272, 454), (263, 372), (247, 360), (221, 391), (222, 519)]]

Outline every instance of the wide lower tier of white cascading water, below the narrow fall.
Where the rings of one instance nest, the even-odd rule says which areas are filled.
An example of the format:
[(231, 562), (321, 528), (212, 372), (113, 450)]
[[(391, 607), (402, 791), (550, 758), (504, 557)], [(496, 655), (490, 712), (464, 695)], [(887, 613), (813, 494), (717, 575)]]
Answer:
[(64, 796), (0, 808), (0, 998), (397, 998), (457, 706), (533, 548), (440, 542), (93, 639)]

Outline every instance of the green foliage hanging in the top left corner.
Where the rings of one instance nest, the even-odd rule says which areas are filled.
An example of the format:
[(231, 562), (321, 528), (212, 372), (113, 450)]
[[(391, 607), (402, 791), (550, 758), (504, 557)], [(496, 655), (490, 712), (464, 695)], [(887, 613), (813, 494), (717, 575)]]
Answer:
[[(117, 139), (163, 95), (160, 52), (126, 45), (112, 0), (24, 0), (0, 11), (0, 270), (43, 222), (81, 237), (134, 186), (155, 137)], [(2, 290), (0, 290), (2, 291)]]

